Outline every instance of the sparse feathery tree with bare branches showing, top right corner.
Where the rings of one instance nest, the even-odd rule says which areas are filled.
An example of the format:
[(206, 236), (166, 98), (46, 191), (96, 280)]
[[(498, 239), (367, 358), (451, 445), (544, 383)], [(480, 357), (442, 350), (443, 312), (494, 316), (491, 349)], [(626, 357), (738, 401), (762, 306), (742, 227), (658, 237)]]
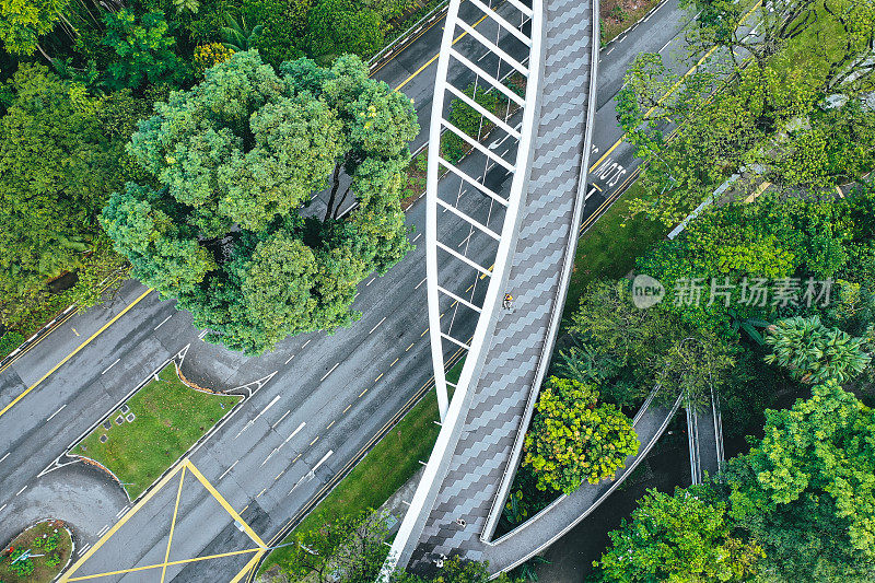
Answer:
[[(653, 199), (634, 211), (674, 225), (733, 173), (738, 186), (768, 180), (781, 191), (818, 193), (875, 167), (875, 112), (860, 100), (875, 88), (871, 2), (772, 2), (747, 16), (757, 35), (747, 34), (749, 23), (737, 26), (744, 3), (697, 3), (691, 56), (716, 44), (709, 67), (681, 78), (660, 55), (643, 54), (618, 95)], [(672, 140), (669, 121), (682, 121)]]

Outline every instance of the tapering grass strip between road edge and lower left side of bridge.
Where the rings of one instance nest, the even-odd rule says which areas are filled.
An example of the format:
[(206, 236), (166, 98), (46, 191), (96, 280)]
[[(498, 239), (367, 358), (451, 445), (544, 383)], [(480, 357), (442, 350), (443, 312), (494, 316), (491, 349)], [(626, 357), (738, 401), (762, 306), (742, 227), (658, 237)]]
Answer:
[[(446, 374), (447, 381), (455, 383), (462, 374), (459, 361)], [(319, 502), (301, 524), (295, 526), (282, 544), (291, 543), (299, 533), (319, 528), (338, 516), (358, 514), (366, 509), (381, 506), (395, 491), (407, 482), (431, 455), (434, 441), (441, 428), (434, 422), (439, 419), (438, 397), (429, 390), (422, 399), (389, 431), (373, 450), (362, 458), (349, 476), (343, 478), (331, 492)], [(275, 564), (280, 568), (289, 560), (293, 547), (272, 551), (265, 559), (259, 573)]]

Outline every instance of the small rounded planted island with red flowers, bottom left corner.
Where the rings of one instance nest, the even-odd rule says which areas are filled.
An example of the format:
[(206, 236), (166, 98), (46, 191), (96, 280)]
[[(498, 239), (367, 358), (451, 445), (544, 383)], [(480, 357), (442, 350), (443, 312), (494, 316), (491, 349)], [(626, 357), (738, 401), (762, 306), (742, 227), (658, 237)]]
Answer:
[[(32, 558), (16, 560), (20, 550)], [(45, 521), (27, 528), (0, 552), (0, 581), (3, 583), (48, 583), (67, 565), (73, 550), (70, 532), (60, 521)], [(37, 557), (42, 555), (42, 557)]]

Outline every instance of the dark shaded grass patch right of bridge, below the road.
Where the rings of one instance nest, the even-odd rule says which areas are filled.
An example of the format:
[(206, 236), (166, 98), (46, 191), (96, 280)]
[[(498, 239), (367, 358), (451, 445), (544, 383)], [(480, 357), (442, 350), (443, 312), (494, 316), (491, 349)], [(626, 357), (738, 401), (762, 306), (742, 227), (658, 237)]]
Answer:
[(596, 279), (618, 279), (629, 272), (635, 259), (668, 233), (663, 224), (639, 215), (627, 221), (629, 202), (641, 197), (634, 182), (581, 237), (569, 282), (564, 314), (580, 303), (583, 291)]

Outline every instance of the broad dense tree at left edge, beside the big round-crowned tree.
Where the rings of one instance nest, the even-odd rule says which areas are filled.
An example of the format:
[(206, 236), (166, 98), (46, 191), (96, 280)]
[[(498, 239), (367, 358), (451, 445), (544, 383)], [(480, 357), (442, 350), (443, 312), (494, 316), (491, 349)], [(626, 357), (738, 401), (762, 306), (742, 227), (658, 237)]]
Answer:
[(47, 279), (82, 266), (125, 154), (103, 124), (104, 102), (81, 85), (23, 65), (11, 89), (0, 119), (0, 289), (26, 304)]

